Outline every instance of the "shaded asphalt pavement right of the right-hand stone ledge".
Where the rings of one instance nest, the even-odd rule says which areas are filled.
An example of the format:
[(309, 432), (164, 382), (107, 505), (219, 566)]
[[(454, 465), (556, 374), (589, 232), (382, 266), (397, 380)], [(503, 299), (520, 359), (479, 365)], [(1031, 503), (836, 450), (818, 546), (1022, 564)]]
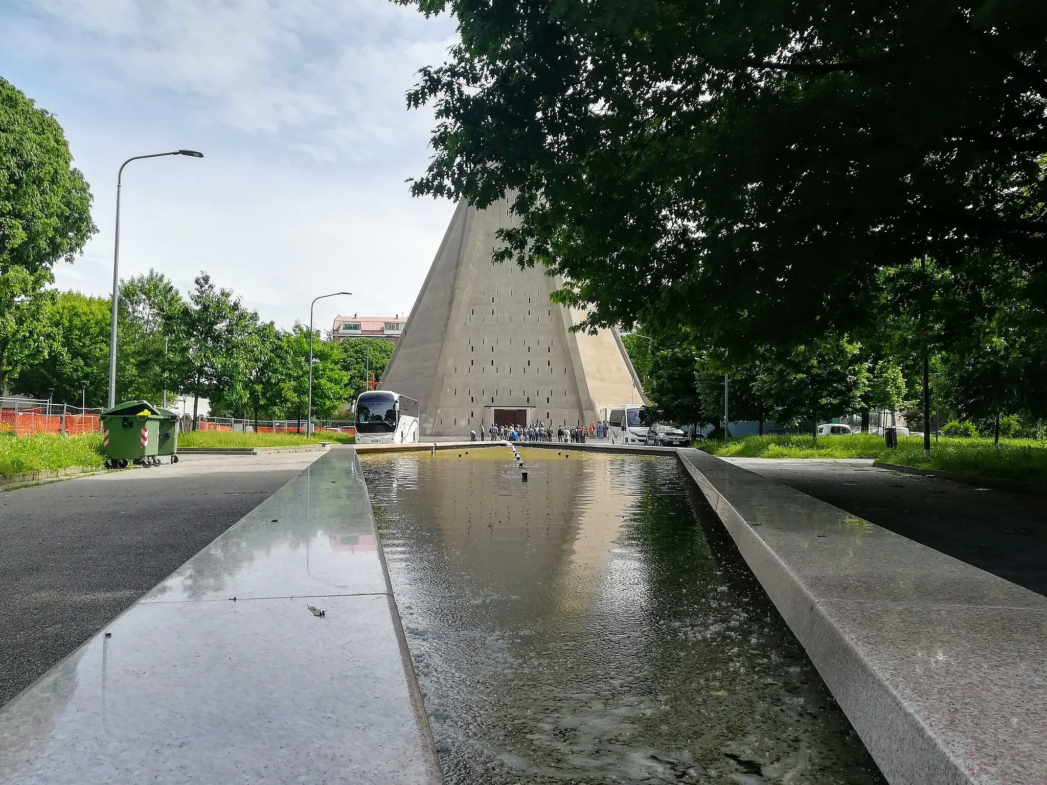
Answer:
[(1047, 596), (1047, 498), (876, 469), (871, 461), (729, 458)]

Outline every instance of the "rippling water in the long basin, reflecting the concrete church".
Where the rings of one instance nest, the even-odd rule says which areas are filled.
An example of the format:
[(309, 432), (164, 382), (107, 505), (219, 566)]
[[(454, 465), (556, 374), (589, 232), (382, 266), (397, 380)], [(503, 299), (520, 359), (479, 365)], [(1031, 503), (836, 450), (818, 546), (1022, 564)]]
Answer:
[(674, 457), (364, 455), (448, 785), (884, 783)]

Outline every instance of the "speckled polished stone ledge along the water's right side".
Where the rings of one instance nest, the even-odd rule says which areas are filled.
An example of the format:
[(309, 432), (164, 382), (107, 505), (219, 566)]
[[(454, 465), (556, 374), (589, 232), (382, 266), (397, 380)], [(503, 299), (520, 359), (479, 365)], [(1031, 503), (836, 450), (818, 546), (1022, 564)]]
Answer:
[(891, 783), (1047, 782), (1047, 598), (678, 454)]

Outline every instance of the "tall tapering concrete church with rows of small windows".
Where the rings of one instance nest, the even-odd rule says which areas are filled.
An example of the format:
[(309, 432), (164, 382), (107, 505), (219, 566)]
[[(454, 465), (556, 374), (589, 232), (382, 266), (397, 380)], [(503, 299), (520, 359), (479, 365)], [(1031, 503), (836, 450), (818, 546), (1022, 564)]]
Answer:
[(380, 385), (419, 401), (420, 438), (588, 425), (643, 402), (617, 331), (570, 332), (585, 314), (550, 299), (558, 278), (492, 262), (516, 221), (506, 201), (454, 210)]

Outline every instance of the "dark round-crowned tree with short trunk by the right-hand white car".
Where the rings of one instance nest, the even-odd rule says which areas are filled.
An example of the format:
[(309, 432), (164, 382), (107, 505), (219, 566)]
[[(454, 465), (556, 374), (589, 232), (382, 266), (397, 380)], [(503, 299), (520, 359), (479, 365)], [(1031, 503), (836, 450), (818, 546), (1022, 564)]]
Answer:
[(753, 390), (772, 407), (776, 422), (811, 418), (817, 440), (819, 419), (857, 411), (868, 384), (861, 346), (846, 336), (829, 336), (767, 355)]

